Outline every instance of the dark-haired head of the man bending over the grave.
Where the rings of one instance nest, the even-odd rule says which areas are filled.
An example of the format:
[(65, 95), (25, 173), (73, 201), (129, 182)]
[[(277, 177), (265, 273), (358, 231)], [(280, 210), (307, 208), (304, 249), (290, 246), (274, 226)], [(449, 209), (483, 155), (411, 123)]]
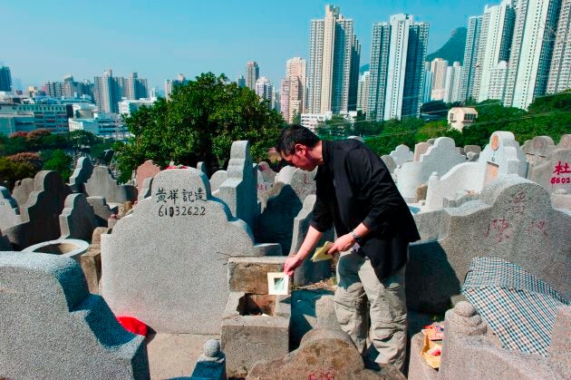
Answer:
[(289, 164), (305, 171), (313, 171), (322, 162), (319, 137), (298, 124), (288, 125), (282, 130), (276, 151)]

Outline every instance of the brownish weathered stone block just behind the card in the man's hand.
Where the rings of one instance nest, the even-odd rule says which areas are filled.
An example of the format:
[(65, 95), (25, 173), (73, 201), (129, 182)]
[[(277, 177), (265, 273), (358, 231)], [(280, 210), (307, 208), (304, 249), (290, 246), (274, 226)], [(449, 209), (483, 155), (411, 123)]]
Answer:
[(267, 274), (284, 270), (284, 257), (228, 258), (231, 292), (267, 294)]

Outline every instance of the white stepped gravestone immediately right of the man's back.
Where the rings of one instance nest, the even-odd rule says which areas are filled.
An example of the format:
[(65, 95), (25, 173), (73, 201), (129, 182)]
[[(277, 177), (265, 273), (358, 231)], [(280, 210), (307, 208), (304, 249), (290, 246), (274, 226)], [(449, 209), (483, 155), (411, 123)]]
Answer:
[(429, 180), (433, 172), (443, 175), (466, 159), (457, 150), (450, 137), (434, 141), (419, 161), (404, 162), (397, 174), (397, 187), (407, 202), (416, 201), (416, 189)]

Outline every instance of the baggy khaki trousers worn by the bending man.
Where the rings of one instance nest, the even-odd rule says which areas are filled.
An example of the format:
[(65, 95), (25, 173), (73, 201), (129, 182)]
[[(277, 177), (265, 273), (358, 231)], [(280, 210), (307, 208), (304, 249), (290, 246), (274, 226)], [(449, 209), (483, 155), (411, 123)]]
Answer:
[[(371, 261), (352, 251), (343, 252), (337, 263), (335, 314), (344, 332), (365, 356), (380, 365), (402, 370), (406, 356), (406, 297), (403, 266), (392, 277), (379, 281)], [(370, 339), (367, 340), (367, 299), (371, 304)]]

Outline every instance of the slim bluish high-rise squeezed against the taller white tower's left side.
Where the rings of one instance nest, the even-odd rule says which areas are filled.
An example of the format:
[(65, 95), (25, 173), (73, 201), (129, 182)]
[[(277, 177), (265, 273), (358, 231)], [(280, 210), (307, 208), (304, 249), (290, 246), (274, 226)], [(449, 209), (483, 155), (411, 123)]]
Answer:
[(460, 79), (460, 101), (464, 102), (474, 97), (474, 78), (479, 54), (479, 34), (481, 32), (482, 16), (472, 16), (468, 19), (468, 33), (464, 48), (464, 65)]

